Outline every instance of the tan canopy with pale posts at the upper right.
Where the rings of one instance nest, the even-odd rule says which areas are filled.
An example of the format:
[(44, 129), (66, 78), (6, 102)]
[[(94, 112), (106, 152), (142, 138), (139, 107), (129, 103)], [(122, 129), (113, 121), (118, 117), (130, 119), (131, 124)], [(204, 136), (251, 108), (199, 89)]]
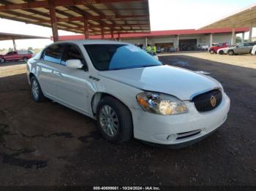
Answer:
[[(233, 28), (233, 42), (235, 42), (236, 31), (235, 28), (238, 27), (248, 27), (249, 28), (249, 42), (252, 41), (252, 28), (256, 27), (256, 4), (242, 9), (239, 12), (229, 15), (215, 23), (211, 23), (208, 26), (204, 26), (200, 29), (209, 28)], [(244, 39), (244, 34), (243, 34)]]

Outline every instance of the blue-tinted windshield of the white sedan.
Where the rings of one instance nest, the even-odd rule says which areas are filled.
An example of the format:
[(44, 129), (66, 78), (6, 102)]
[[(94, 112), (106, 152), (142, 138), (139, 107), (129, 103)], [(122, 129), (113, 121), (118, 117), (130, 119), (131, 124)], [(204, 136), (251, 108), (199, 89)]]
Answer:
[(132, 44), (86, 44), (84, 47), (99, 71), (162, 65), (156, 58)]

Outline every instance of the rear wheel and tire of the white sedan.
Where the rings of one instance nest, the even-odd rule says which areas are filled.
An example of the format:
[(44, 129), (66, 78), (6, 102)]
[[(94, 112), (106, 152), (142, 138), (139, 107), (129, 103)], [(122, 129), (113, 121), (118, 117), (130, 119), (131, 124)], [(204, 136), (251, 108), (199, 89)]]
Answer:
[(34, 76), (31, 77), (30, 84), (31, 84), (31, 96), (32, 96), (33, 100), (36, 102), (45, 101), (45, 95), (43, 95), (42, 89), (41, 89), (36, 77), (34, 77)]

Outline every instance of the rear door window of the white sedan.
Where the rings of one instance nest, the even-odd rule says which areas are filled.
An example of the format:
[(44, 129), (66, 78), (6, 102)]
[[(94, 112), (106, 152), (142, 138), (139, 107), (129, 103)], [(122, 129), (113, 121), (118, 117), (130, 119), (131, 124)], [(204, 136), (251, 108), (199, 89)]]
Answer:
[(42, 52), (42, 60), (52, 63), (61, 63), (63, 48), (64, 46), (62, 44), (53, 44)]

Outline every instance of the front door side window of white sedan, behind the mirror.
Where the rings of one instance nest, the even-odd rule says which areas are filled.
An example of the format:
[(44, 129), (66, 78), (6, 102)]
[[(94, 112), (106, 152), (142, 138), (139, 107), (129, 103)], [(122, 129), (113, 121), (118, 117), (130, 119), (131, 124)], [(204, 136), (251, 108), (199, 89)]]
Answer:
[(67, 44), (64, 53), (62, 54), (61, 64), (66, 66), (66, 61), (72, 59), (78, 59), (81, 61), (81, 63), (84, 63), (83, 56), (78, 50), (78, 47), (75, 47), (71, 44)]

